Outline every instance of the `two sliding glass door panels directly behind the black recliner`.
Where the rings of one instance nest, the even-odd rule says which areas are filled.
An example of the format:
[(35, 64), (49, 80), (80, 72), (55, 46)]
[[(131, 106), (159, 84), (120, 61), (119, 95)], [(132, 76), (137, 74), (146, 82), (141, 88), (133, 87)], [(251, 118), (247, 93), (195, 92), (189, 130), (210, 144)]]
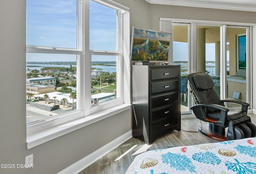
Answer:
[[(209, 74), (220, 98), (250, 103), (249, 27), (224, 28), (226, 30), (221, 25), (196, 25), (196, 71), (194, 72)], [(224, 40), (226, 45), (221, 45)], [(224, 51), (226, 54), (222, 54)], [(240, 105), (227, 103), (227, 107), (236, 108)]]

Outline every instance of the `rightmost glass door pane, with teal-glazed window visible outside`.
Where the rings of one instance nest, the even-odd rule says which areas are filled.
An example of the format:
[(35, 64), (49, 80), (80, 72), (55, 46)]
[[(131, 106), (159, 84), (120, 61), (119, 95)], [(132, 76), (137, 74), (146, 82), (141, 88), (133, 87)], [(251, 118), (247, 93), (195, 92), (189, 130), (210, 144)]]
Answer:
[[(227, 27), (227, 98), (248, 102), (247, 93), (247, 60), (248, 50), (246, 27)], [(229, 104), (228, 107), (239, 107)]]

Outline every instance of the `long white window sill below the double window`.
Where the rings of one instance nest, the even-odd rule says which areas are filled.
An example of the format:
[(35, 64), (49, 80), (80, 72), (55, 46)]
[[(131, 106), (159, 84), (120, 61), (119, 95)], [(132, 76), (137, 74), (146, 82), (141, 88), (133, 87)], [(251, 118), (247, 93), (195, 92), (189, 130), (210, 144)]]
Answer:
[(130, 107), (131, 107), (130, 104), (122, 104), (120, 106), (109, 108), (104, 111), (93, 113), (86, 117), (83, 117), (74, 121), (70, 121), (62, 125), (58, 125), (56, 127), (51, 127), (43, 131), (32, 133), (30, 135), (27, 135), (27, 148), (31, 149), (33, 147), (46, 143), (47, 141), (50, 141), (52, 139), (65, 135), (72, 131), (78, 130), (92, 123), (108, 118), (122, 111), (126, 111), (130, 109)]

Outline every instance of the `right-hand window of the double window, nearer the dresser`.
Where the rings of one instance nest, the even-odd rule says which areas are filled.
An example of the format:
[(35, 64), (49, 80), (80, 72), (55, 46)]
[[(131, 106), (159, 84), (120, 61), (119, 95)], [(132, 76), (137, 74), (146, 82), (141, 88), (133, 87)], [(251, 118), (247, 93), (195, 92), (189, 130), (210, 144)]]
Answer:
[[(91, 104), (95, 106), (120, 97), (118, 63), (122, 63), (119, 42), (120, 12), (90, 0)], [(108, 15), (106, 15), (108, 14)]]

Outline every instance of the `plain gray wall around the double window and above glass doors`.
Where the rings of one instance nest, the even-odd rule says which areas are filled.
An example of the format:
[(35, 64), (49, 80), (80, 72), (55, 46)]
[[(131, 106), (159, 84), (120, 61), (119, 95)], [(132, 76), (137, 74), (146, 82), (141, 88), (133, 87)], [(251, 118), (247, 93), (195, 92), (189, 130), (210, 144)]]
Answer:
[[(116, 0), (130, 8), (132, 26), (159, 29), (159, 18), (254, 22), (256, 13), (148, 4)], [(4, 174), (54, 174), (132, 129), (125, 111), (52, 141), (26, 149), (26, 1), (0, 1), (0, 163), (24, 164), (34, 154), (33, 169), (2, 169)], [(114, 126), (113, 126), (114, 125)]]

